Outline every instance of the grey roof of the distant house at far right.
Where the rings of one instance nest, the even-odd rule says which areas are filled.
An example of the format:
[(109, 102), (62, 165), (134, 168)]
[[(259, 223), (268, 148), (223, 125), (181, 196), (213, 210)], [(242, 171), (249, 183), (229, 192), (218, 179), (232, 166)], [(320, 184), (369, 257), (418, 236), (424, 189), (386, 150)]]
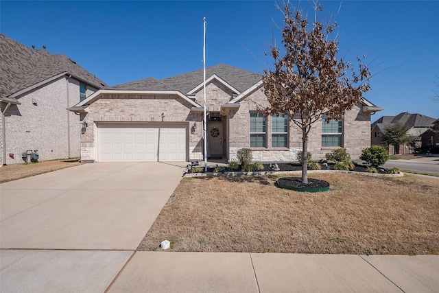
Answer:
[(375, 126), (379, 128), (379, 130), (383, 130), (384, 128), (392, 125), (392, 124), (402, 124), (407, 128), (429, 128), (434, 124), (436, 119), (421, 115), (421, 114), (411, 114), (408, 112), (399, 113), (396, 116), (382, 116), (377, 121), (372, 123), (370, 126), (373, 129)]

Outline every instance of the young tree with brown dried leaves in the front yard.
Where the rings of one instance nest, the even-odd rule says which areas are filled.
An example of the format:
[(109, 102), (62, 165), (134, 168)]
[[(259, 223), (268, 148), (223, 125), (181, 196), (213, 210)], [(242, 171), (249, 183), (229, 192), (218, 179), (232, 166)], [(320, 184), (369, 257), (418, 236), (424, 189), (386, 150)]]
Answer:
[(309, 23), (300, 9), (286, 4), (282, 30), (283, 50), (270, 46), (274, 69), (264, 70), (263, 91), (270, 106), (265, 115), (288, 115), (302, 130), (302, 183), (308, 184), (307, 154), (311, 126), (327, 115), (340, 120), (344, 112), (361, 102), (370, 90), (370, 71), (357, 57), (358, 69), (337, 58), (338, 42), (331, 40), (336, 23), (317, 21), (322, 8), (315, 3), (316, 16)]

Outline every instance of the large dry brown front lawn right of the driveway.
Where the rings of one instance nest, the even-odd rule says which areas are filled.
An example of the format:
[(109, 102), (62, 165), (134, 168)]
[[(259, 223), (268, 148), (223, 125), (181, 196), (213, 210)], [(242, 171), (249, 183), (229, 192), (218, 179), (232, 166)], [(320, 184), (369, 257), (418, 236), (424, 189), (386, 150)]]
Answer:
[(439, 178), (312, 174), (329, 191), (275, 177), (184, 178), (138, 250), (439, 254)]

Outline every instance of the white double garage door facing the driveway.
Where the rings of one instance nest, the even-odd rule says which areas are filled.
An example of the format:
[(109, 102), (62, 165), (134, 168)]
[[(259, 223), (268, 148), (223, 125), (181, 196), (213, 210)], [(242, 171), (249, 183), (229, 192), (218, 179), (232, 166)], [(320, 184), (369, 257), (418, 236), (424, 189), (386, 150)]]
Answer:
[(186, 129), (186, 124), (98, 124), (98, 160), (186, 161)]

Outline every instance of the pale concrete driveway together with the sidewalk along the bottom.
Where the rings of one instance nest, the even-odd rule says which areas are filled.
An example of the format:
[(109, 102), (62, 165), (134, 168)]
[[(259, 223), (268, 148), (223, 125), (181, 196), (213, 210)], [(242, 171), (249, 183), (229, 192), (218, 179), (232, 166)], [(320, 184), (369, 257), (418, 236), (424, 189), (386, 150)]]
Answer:
[(439, 255), (136, 251), (186, 163), (0, 185), (0, 292), (439, 292)]

